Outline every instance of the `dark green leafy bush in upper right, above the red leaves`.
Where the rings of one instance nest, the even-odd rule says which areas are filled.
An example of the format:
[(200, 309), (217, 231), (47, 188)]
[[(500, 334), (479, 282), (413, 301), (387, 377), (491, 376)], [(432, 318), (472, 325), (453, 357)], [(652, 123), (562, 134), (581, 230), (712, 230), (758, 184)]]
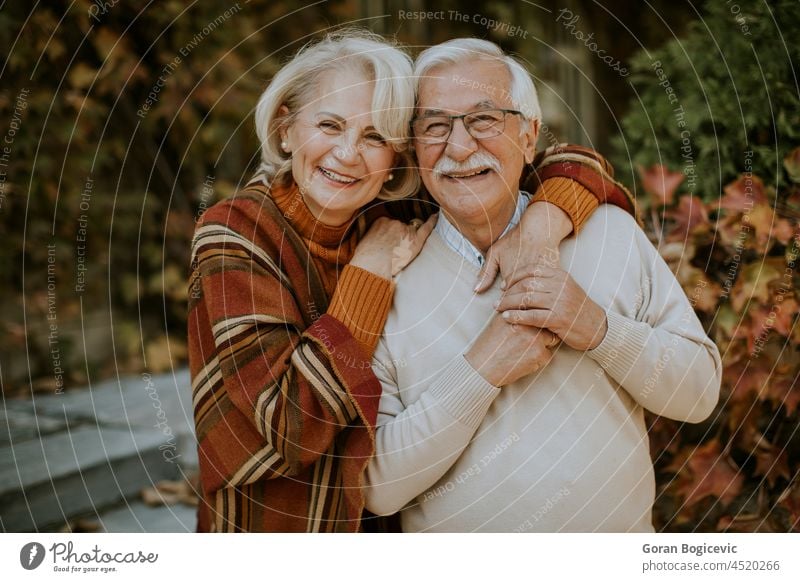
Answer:
[(625, 179), (637, 165), (680, 168), (689, 191), (712, 202), (747, 164), (796, 217), (785, 207), (792, 190), (781, 162), (800, 143), (798, 32), (794, 0), (710, 2), (680, 38), (638, 52), (636, 98), (613, 139), (617, 166), (631, 172)]

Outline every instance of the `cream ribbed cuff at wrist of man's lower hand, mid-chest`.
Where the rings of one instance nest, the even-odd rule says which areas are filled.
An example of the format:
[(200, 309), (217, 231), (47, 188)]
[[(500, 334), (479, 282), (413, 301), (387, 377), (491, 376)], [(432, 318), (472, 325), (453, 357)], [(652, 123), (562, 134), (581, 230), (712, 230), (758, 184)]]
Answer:
[(429, 393), (453, 418), (475, 429), (500, 389), (484, 380), (461, 355), (444, 369)]

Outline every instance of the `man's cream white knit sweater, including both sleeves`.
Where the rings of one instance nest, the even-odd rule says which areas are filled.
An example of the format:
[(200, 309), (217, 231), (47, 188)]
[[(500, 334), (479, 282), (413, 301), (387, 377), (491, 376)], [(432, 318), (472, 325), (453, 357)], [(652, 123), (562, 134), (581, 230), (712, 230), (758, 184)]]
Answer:
[(375, 353), (383, 384), (367, 508), (403, 531), (652, 531), (655, 479), (643, 409), (699, 422), (721, 364), (694, 310), (633, 219), (602, 206), (561, 245), (561, 265), (606, 309), (590, 352), (561, 345), (502, 389), (463, 354), (497, 284), (432, 234), (397, 280)]

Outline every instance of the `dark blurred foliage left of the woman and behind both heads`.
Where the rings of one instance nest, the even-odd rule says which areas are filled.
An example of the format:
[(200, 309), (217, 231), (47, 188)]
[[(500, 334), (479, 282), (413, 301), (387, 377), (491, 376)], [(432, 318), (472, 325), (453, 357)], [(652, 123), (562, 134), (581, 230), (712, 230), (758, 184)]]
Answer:
[[(659, 13), (678, 28), (691, 18), (661, 4), (627, 23), (606, 14), (604, 26), (593, 21), (605, 7), (568, 5), (583, 10), (583, 30), (600, 42), (628, 38), (630, 51), (666, 33), (652, 26)], [(617, 77), (603, 91), (593, 89), (608, 75), (596, 74), (599, 61), (553, 23), (559, 9), (452, 0), (4, 5), (0, 119), (8, 132), (19, 126), (0, 168), (0, 224), (8, 235), (0, 248), (4, 391), (53, 390), (61, 379), (85, 385), (95, 376), (165, 370), (185, 360), (194, 220), (252, 169), (252, 111), (269, 79), (302, 44), (333, 27), (365, 26), (414, 50), (456, 36), (491, 38), (536, 71), (551, 140), (602, 150), (607, 133), (596, 128), (609, 122), (597, 120), (616, 115), (607, 92), (621, 96), (616, 103), (624, 107), (625, 84)], [(447, 13), (446, 26), (405, 16), (425, 10)], [(449, 18), (451, 11), (468, 18)], [(493, 31), (481, 18), (527, 34)], [(619, 34), (626, 27), (637, 36)], [(48, 245), (57, 288), (50, 296)], [(55, 318), (48, 320), (50, 311)], [(54, 362), (66, 364), (63, 378)]]

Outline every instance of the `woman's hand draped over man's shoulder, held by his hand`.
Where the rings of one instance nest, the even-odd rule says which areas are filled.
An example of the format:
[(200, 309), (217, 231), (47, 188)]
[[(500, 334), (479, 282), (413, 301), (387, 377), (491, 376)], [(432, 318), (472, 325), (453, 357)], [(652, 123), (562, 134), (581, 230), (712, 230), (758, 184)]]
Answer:
[(483, 293), (494, 283), (498, 273), (501, 288), (513, 286), (526, 265), (544, 262), (558, 266), (558, 245), (572, 232), (569, 215), (555, 204), (534, 202), (522, 215), (519, 226), (495, 242), (486, 253), (478, 274), (476, 293)]

